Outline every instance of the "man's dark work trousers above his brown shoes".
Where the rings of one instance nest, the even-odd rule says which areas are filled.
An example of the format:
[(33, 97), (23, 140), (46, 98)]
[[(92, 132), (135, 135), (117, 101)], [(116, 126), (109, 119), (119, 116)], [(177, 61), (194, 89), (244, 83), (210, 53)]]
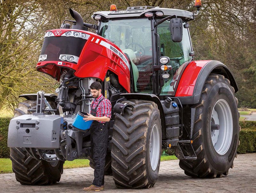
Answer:
[(95, 167), (92, 184), (101, 186), (104, 184), (105, 158), (108, 147), (108, 128), (106, 123), (99, 123), (97, 121), (92, 122), (91, 145)]

